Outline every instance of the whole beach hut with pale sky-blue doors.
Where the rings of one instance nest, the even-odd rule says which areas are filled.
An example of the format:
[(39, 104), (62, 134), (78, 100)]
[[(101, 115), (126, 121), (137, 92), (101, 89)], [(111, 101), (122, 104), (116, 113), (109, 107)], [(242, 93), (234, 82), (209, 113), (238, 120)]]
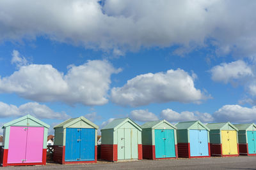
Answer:
[(209, 129), (199, 120), (180, 122), (177, 127), (179, 157), (210, 157)]

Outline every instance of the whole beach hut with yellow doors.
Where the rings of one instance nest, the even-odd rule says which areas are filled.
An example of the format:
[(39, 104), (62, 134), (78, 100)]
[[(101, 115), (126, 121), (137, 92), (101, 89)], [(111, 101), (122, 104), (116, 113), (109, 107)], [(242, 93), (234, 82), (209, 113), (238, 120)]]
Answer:
[(238, 156), (238, 129), (230, 122), (206, 124), (210, 131), (211, 155), (216, 157)]

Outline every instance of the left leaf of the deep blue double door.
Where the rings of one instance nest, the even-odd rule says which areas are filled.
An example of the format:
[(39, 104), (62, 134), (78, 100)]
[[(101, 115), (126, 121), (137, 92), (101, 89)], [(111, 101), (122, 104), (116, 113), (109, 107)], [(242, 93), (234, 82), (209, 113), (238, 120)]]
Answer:
[(77, 128), (66, 129), (65, 161), (80, 159), (80, 131)]

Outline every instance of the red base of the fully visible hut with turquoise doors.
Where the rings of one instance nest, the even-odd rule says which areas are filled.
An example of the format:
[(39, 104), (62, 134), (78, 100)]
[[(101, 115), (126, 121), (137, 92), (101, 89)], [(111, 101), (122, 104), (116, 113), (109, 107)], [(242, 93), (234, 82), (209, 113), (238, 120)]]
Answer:
[(156, 158), (156, 146), (155, 145), (142, 145), (143, 148), (143, 159), (177, 159), (178, 158), (178, 146), (175, 145), (175, 155), (176, 157), (167, 158)]

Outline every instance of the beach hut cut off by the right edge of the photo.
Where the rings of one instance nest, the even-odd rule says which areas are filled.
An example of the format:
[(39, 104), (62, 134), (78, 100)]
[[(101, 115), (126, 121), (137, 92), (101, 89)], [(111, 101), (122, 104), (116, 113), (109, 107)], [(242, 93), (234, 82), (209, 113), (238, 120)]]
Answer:
[(239, 155), (256, 155), (256, 125), (236, 124), (238, 129)]

